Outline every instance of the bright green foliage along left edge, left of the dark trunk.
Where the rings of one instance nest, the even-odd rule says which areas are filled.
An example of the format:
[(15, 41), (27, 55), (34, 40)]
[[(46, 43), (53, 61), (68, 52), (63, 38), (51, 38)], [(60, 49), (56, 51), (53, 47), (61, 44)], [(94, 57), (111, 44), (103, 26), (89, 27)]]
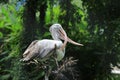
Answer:
[[(20, 11), (22, 11), (22, 9)], [(18, 58), (20, 53), (19, 44), (20, 33), (22, 30), (20, 14), (19, 11), (16, 11), (15, 4), (0, 4), (0, 39), (2, 40), (0, 42), (2, 49), (2, 52), (0, 53), (0, 64), (2, 64), (0, 66), (1, 80), (10, 78), (18, 80), (14, 79), (15, 77), (13, 74), (18, 76), (19, 72), (16, 71), (19, 67), (16, 66), (18, 66), (17, 64), (19, 64), (19, 62), (13, 64), (13, 61), (16, 61), (15, 58)], [(14, 71), (15, 68), (17, 69)]]

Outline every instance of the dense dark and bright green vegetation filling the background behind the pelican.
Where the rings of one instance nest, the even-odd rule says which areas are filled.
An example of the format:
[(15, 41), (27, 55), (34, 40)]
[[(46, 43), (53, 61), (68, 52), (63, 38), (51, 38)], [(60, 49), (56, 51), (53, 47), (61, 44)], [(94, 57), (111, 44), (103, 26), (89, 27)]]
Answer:
[(66, 48), (66, 57), (78, 60), (76, 80), (119, 80), (111, 74), (112, 66), (120, 63), (119, 9), (119, 0), (1, 0), (0, 80), (43, 79), (36, 65), (19, 60), (33, 40), (51, 39), (49, 27), (54, 23), (84, 44)]

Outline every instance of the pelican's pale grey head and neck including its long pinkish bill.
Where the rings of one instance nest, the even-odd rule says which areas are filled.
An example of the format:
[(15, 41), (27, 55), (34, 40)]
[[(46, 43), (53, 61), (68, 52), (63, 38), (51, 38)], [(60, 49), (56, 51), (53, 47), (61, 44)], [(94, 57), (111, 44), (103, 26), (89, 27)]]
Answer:
[(62, 26), (60, 24), (53, 24), (50, 27), (49, 31), (51, 32), (53, 39), (55, 39), (55, 40), (60, 40), (60, 39), (64, 40), (64, 44), (63, 44), (62, 48), (64, 48), (66, 46), (67, 42), (70, 42), (70, 43), (72, 43), (74, 45), (83, 46), (83, 44), (79, 44), (79, 43), (71, 40), (67, 36), (66, 32), (64, 31), (64, 29), (62, 28)]

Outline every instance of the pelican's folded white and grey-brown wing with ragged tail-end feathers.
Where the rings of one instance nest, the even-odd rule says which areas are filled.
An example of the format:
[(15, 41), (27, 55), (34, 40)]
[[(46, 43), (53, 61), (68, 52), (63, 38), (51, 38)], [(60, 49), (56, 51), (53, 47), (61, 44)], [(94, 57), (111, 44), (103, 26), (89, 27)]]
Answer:
[(50, 56), (56, 48), (55, 44), (52, 40), (33, 41), (23, 53), (22, 61), (28, 61), (35, 57), (44, 58)]

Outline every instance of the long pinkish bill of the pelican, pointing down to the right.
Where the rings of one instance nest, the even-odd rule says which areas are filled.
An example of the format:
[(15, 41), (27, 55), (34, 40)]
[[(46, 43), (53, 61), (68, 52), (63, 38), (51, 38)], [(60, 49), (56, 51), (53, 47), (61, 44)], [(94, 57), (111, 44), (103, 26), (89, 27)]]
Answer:
[(60, 29), (59, 33), (60, 33), (60, 38), (62, 40), (64, 40), (64, 44), (63, 44), (62, 48), (64, 48), (66, 46), (67, 42), (70, 42), (70, 43), (72, 43), (74, 45), (83, 46), (83, 44), (77, 43), (77, 42), (71, 40), (69, 37), (67, 37), (67, 34), (66, 34), (66, 32), (63, 29)]

